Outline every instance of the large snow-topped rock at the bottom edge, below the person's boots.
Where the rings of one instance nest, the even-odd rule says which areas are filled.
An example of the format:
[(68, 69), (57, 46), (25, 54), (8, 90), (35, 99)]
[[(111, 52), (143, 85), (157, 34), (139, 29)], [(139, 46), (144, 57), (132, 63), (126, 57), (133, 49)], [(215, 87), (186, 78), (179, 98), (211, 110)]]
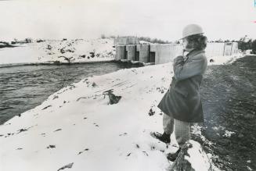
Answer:
[(212, 171), (211, 161), (202, 146), (193, 140), (186, 142), (169, 171)]

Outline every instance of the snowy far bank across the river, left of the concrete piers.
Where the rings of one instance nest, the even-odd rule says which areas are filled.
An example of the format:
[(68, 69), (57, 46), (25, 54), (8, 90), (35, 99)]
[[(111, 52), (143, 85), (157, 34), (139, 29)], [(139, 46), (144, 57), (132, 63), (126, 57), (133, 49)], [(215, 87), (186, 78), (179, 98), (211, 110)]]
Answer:
[(113, 39), (43, 41), (0, 48), (0, 64), (114, 60)]

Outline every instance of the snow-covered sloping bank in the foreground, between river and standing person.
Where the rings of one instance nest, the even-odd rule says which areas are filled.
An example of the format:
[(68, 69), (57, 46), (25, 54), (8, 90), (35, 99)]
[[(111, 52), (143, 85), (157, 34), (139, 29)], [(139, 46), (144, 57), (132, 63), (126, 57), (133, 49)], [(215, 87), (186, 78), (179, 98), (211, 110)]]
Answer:
[[(216, 58), (213, 63), (230, 59)], [(64, 87), (0, 126), (0, 170), (167, 169), (171, 162), (166, 154), (178, 148), (175, 137), (171, 135), (167, 147), (150, 132), (163, 131), (162, 113), (156, 106), (172, 75), (168, 62), (120, 69)], [(121, 96), (120, 102), (108, 104), (103, 91), (109, 89)], [(193, 126), (193, 134), (200, 134), (199, 126)]]

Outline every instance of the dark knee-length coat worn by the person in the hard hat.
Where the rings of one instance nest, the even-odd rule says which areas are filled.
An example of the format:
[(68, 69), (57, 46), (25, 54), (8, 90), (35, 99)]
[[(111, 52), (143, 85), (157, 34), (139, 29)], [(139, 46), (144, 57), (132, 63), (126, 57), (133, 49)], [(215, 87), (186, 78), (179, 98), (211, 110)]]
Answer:
[(204, 122), (199, 94), (203, 73), (207, 68), (204, 50), (193, 50), (174, 59), (174, 77), (169, 90), (157, 105), (162, 112), (174, 119), (189, 123)]

